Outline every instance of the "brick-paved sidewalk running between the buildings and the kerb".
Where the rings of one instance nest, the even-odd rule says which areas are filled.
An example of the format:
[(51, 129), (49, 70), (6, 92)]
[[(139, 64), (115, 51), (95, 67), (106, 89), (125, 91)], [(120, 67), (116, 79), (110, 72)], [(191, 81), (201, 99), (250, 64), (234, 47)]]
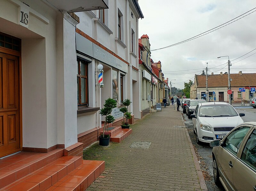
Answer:
[[(181, 112), (162, 107), (131, 125), (132, 134), (121, 143), (87, 148), (84, 159), (106, 163), (87, 190), (207, 190), (187, 129), (174, 126), (185, 126)], [(135, 141), (151, 145), (130, 148)]]

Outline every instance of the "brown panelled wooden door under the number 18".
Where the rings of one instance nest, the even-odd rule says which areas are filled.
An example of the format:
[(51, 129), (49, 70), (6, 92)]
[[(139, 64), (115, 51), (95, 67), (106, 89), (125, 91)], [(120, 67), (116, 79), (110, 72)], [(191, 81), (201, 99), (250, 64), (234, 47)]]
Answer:
[(20, 151), (19, 57), (0, 52), (0, 158)]

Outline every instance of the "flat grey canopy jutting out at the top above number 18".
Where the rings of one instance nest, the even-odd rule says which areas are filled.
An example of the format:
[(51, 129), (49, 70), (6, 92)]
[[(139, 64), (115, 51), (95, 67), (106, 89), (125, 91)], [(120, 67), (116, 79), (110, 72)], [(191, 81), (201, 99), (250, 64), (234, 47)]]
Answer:
[(45, 2), (59, 10), (66, 10), (68, 12), (108, 9), (105, 0), (47, 0)]

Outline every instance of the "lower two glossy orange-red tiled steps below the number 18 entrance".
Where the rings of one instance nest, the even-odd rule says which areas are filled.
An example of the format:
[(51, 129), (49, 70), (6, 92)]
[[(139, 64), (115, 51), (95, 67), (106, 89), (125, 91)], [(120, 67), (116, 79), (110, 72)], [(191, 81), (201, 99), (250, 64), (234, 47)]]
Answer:
[(85, 191), (104, 169), (105, 161), (64, 156), (0, 191)]

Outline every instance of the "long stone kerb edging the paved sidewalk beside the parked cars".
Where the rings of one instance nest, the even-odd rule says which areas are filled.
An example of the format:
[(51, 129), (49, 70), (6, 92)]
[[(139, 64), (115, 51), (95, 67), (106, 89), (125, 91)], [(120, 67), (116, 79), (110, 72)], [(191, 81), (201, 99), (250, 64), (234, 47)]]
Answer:
[[(180, 113), (180, 115), (181, 115), (182, 124), (183, 124), (184, 127), (186, 127), (185, 122), (183, 120), (183, 116), (182, 116), (181, 113)], [(202, 191), (208, 191), (208, 188), (206, 186), (206, 183), (205, 183), (205, 180), (204, 180), (204, 177), (203, 177), (203, 173), (202, 173), (202, 170), (200, 168), (198, 159), (196, 157), (195, 150), (194, 150), (193, 144), (191, 142), (190, 136), (188, 134), (187, 128), (184, 128), (184, 129), (186, 131), (186, 136), (187, 136), (188, 144), (189, 144), (192, 156), (193, 156), (195, 170), (196, 170), (196, 173), (197, 173), (197, 176), (198, 176), (198, 179), (199, 179), (200, 187), (201, 187)]]

